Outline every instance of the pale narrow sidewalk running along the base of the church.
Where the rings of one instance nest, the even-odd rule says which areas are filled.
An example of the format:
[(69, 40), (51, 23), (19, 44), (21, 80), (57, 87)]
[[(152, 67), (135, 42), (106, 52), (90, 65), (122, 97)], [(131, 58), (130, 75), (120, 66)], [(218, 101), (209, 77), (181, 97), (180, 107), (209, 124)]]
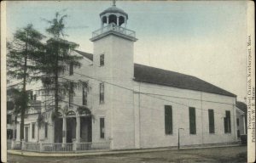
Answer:
[[(181, 147), (181, 150), (185, 149), (211, 149), (211, 148), (222, 148), (222, 147), (236, 147), (241, 146), (240, 144), (223, 144), (223, 145), (207, 145), (207, 146), (186, 146)], [(11, 155), (25, 155), (34, 157), (73, 157), (73, 156), (94, 156), (94, 155), (119, 155), (119, 154), (136, 154), (136, 153), (147, 153), (147, 152), (157, 152), (166, 150), (177, 150), (177, 147), (169, 148), (158, 148), (158, 149), (127, 149), (127, 150), (90, 150), (87, 152), (73, 152), (73, 153), (38, 153), (31, 151), (22, 150), (7, 150), (8, 154)]]

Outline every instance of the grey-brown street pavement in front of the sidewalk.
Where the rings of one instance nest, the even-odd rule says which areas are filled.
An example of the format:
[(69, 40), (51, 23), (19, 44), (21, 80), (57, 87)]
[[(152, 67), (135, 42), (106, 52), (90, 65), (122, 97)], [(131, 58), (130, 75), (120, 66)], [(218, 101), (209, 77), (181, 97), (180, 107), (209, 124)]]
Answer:
[(181, 149), (135, 154), (114, 154), (74, 157), (31, 157), (8, 155), (9, 163), (187, 163), (187, 162), (247, 162), (247, 147), (221, 147), (212, 149)]

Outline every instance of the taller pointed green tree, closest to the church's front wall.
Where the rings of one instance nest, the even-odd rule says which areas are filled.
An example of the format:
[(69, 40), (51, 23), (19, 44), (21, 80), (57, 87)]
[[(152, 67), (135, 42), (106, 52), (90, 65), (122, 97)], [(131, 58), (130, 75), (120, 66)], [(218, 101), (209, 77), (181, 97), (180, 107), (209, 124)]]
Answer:
[(41, 70), (44, 74), (42, 78), (44, 92), (54, 95), (55, 112), (52, 115), (58, 112), (60, 100), (67, 93), (74, 94), (73, 89), (79, 85), (78, 82), (61, 78), (67, 70), (79, 68), (81, 66), (79, 59), (82, 59), (81, 56), (71, 54), (73, 49), (79, 45), (65, 40), (64, 20), (66, 18), (67, 15), (56, 13), (53, 20), (47, 20), (49, 28), (46, 31), (49, 34), (49, 39), (46, 42), (47, 50), (42, 58)]

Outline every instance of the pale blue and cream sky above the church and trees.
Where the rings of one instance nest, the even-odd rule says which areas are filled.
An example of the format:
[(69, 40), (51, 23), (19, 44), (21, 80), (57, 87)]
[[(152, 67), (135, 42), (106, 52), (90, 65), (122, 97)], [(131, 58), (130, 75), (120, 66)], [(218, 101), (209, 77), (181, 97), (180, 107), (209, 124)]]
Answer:
[[(92, 53), (91, 32), (100, 28), (104, 2), (8, 2), (7, 34), (32, 23), (45, 33), (56, 11), (68, 15), (69, 41)], [(247, 3), (117, 1), (129, 14), (127, 28), (136, 31), (135, 62), (197, 76), (236, 93), (247, 90)]]

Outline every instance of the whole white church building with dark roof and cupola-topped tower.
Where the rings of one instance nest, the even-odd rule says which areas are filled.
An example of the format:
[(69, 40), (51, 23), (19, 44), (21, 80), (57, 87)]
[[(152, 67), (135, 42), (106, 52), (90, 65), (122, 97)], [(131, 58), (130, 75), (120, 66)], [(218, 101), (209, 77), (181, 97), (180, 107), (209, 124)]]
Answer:
[[(175, 147), (178, 134), (182, 146), (237, 142), (236, 116), (241, 111), (236, 95), (195, 76), (134, 63), (137, 38), (126, 28), (127, 20), (128, 14), (114, 4), (100, 14), (101, 28), (90, 38), (93, 53), (74, 51), (83, 56), (82, 67), (64, 76), (84, 82), (83, 87), (61, 102), (55, 123), (49, 104), (30, 110), (26, 142), (143, 149)], [(45, 121), (41, 127), (39, 112)], [(20, 117), (17, 121), (20, 141)]]

